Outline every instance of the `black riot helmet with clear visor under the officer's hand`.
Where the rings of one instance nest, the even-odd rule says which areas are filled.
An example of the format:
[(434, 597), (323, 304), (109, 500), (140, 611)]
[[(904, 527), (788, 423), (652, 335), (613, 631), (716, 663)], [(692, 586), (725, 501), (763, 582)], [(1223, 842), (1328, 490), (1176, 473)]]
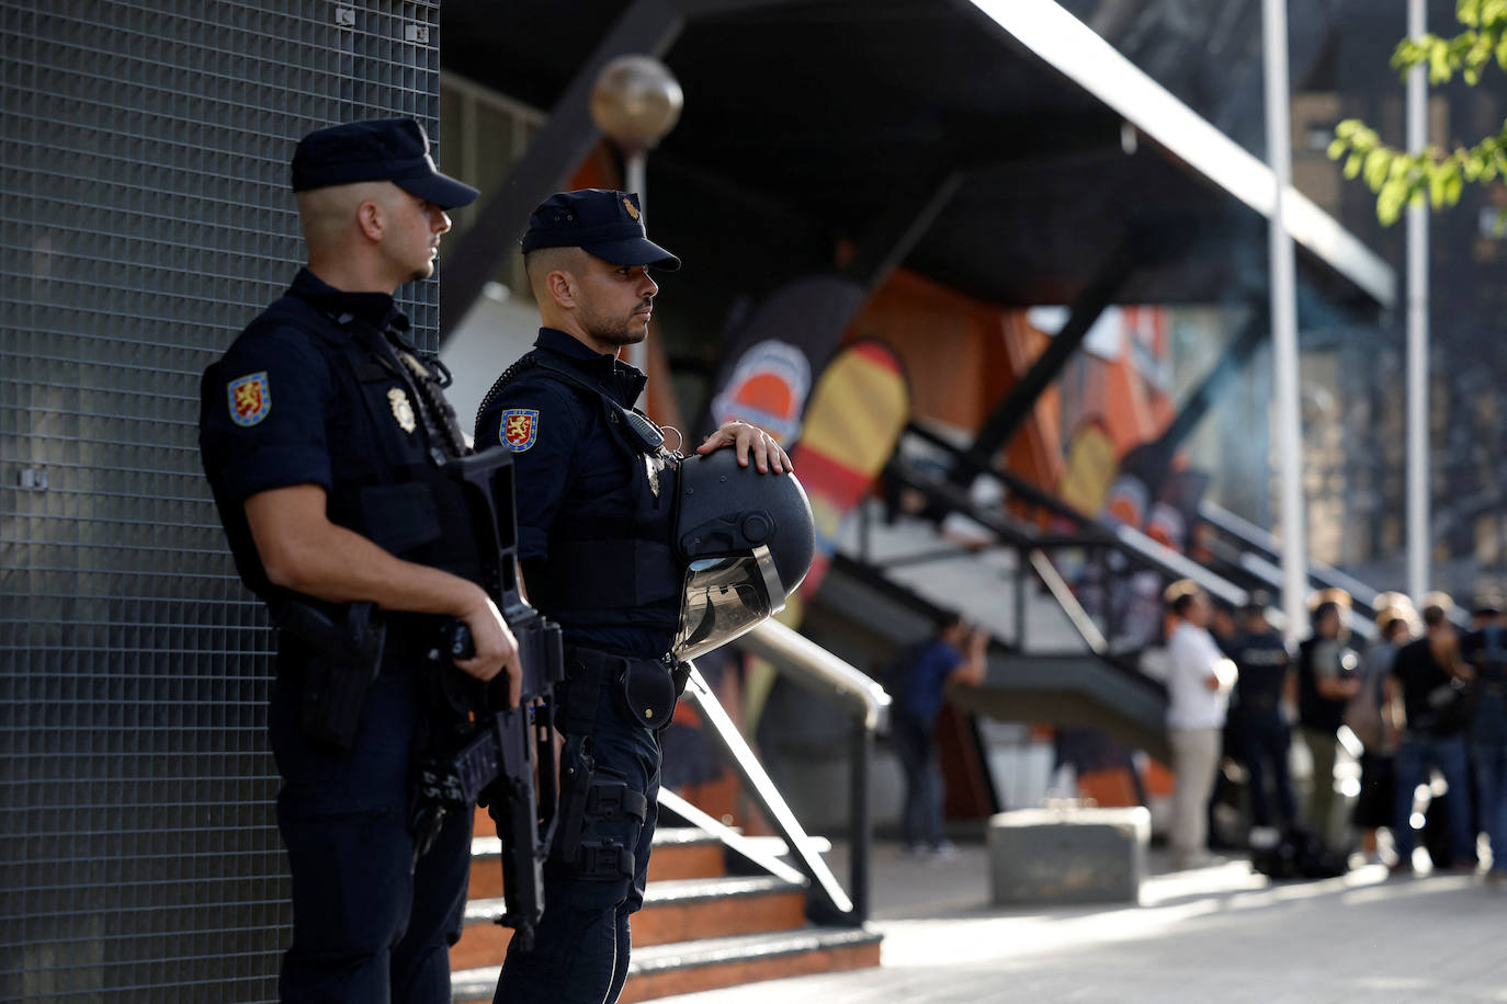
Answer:
[(680, 465), (675, 557), (686, 567), (674, 653), (695, 659), (785, 608), (817, 549), (794, 474), (738, 467), (735, 452)]

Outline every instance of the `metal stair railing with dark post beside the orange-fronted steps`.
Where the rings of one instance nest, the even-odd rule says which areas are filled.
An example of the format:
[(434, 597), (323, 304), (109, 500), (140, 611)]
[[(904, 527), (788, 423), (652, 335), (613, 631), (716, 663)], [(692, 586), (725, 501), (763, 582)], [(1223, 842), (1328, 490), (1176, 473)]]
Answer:
[(848, 802), (850, 878), (848, 891), (844, 891), (699, 670), (692, 670), (690, 685), (686, 688), (686, 697), (695, 703), (702, 721), (726, 753), (744, 790), (773, 823), (775, 831), (790, 847), (796, 869), (808, 879), (806, 917), (817, 923), (859, 927), (868, 920), (870, 911), (870, 855), (873, 850), (873, 813), (868, 804), (870, 765), (874, 757), (874, 736), (889, 729), (889, 694), (867, 674), (773, 620), (743, 635), (738, 646), (763, 656), (778, 670), (800, 677), (808, 688), (826, 691), (853, 713), (851, 796)]

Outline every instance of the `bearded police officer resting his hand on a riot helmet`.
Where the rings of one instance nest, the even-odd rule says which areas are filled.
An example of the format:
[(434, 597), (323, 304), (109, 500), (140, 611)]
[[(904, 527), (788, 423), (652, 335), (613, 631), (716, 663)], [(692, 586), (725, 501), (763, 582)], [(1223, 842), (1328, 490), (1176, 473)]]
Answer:
[[(671, 548), (674, 458), (631, 411), (645, 376), (618, 351), (648, 336), (659, 292), (650, 268), (680, 259), (647, 238), (636, 196), (606, 190), (547, 199), (523, 254), (544, 327), (482, 402), (476, 449), (514, 453), (526, 485), (518, 558), (530, 601), (562, 628), (568, 679), (544, 918), (530, 951), (509, 945), (496, 999), (603, 1004), (627, 978), (628, 915), (643, 905), (654, 835), (657, 730), (674, 710), (674, 691), (668, 703), (637, 697), (669, 686), (684, 580)], [(791, 470), (747, 423), (723, 424), (698, 453), (722, 447), (744, 468)]]

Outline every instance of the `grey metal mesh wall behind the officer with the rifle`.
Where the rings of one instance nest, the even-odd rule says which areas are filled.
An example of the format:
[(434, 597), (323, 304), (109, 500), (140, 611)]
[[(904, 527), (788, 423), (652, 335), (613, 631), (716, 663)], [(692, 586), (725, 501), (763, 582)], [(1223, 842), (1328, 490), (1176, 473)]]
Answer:
[(437, 134), (439, 5), (0, 0), (0, 999), (274, 999), (270, 637), (199, 373), (300, 259), (294, 140)]

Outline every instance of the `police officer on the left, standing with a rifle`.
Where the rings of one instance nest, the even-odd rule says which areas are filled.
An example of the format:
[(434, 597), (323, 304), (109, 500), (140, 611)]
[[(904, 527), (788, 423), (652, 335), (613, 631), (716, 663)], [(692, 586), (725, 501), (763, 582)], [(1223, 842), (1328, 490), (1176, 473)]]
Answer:
[(307, 266), (208, 367), (200, 450), (243, 580), (283, 628), (270, 709), (292, 873), (283, 1001), (449, 1001), (470, 820), (416, 859), (420, 683), (445, 617), (478, 679), (517, 647), (476, 584), (478, 545), (440, 467), (464, 452), (442, 373), (393, 291), (428, 278), (445, 209), (476, 197), (408, 119), (310, 132), (292, 160)]

